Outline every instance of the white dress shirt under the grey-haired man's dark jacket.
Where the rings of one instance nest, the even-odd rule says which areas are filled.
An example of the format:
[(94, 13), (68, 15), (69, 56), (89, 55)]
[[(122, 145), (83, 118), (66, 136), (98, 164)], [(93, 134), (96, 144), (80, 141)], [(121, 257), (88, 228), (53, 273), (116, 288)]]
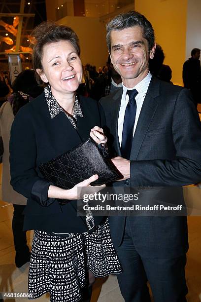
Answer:
[[(127, 88), (126, 86), (124, 86), (124, 84), (122, 84), (123, 86), (123, 94), (122, 94), (122, 99), (121, 99), (121, 106), (120, 106), (120, 110), (119, 110), (119, 118), (118, 118), (118, 135), (119, 135), (119, 143), (121, 146), (122, 143), (122, 132), (123, 132), (123, 125), (124, 125), (124, 115), (125, 115), (125, 111), (126, 111), (126, 107), (127, 104), (129, 103), (129, 96), (127, 94), (127, 90), (132, 90), (132, 89), (136, 89), (138, 94), (135, 97), (135, 101), (136, 101), (136, 115), (135, 115), (135, 122), (134, 122), (134, 132), (137, 126), (137, 122), (138, 122), (138, 118), (139, 118), (139, 114), (141, 112), (142, 109), (142, 105), (147, 93), (147, 89), (149, 87), (151, 81), (151, 74), (150, 72), (148, 73), (147, 76), (145, 76), (145, 78), (143, 78), (143, 80), (141, 80), (141, 82), (139, 82), (137, 85), (135, 85), (133, 88)], [(134, 133), (133, 133), (134, 135)]]

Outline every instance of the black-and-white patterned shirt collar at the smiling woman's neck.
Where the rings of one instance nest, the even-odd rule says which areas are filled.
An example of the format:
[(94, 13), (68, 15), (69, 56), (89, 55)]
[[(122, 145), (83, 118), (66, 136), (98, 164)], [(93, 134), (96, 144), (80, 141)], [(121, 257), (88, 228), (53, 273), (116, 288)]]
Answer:
[[(45, 87), (44, 93), (45, 93), (45, 98), (46, 98), (46, 101), (47, 101), (47, 106), (48, 106), (51, 118), (54, 118), (55, 116), (57, 116), (61, 111), (64, 112), (67, 115), (67, 117), (69, 117), (69, 115), (64, 111), (64, 109), (59, 105), (59, 103), (57, 102), (57, 100), (53, 96), (50, 85)], [(81, 110), (81, 107), (80, 107), (80, 103), (79, 103), (78, 97), (76, 95), (75, 96), (74, 112), (73, 112), (72, 116), (76, 119), (77, 115), (83, 117), (82, 110)]]

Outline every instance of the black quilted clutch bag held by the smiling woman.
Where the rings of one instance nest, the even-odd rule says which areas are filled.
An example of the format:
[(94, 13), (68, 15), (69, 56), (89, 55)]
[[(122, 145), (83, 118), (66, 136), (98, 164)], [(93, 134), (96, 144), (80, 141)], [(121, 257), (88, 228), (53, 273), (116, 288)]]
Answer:
[(46, 180), (63, 189), (71, 189), (94, 174), (98, 174), (99, 178), (91, 185), (102, 185), (122, 178), (110, 159), (104, 156), (104, 152), (91, 138), (41, 164), (39, 170)]

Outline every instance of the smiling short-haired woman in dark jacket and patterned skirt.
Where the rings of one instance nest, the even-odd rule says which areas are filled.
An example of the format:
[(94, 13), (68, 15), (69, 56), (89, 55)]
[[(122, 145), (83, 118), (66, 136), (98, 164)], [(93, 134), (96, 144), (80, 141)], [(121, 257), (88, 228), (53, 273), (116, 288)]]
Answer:
[[(77, 186), (89, 186), (98, 175), (61, 189), (46, 181), (38, 166), (76, 147), (89, 134), (97, 143), (105, 143), (100, 128), (104, 116), (96, 101), (76, 95), (82, 78), (76, 34), (66, 26), (44, 22), (33, 37), (33, 67), (47, 87), (15, 117), (11, 184), (28, 197), (24, 227), (35, 230), (29, 271), (32, 299), (50, 292), (51, 302), (76, 302), (94, 275), (121, 272), (107, 221), (77, 217)], [(90, 301), (90, 295), (82, 299)]]

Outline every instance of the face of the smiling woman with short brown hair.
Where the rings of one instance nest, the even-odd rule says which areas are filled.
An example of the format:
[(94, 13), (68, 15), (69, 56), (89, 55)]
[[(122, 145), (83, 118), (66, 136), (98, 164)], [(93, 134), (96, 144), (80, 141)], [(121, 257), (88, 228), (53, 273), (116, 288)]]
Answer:
[(82, 63), (67, 40), (52, 42), (43, 47), (43, 72), (37, 69), (41, 79), (51, 86), (52, 93), (72, 93), (77, 90), (82, 78)]

